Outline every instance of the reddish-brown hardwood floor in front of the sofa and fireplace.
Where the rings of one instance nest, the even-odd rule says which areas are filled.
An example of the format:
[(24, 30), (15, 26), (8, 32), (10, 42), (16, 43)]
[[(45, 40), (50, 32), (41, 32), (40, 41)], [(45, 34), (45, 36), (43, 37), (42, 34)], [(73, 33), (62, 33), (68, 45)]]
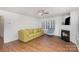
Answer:
[(77, 47), (73, 43), (65, 42), (55, 36), (41, 36), (27, 43), (19, 40), (6, 43), (1, 51), (6, 52), (76, 52)]

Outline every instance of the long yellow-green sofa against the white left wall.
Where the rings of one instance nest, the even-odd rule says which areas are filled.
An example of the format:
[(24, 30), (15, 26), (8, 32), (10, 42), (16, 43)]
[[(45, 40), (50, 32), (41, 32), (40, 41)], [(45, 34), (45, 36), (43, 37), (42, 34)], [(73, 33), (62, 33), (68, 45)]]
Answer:
[(24, 29), (18, 32), (19, 40), (22, 42), (28, 42), (42, 35), (43, 30), (41, 28)]

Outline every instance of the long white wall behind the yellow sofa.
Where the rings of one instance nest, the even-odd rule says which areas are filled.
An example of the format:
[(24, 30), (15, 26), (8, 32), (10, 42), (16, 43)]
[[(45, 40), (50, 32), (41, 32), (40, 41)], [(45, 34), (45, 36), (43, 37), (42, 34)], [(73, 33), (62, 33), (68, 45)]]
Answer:
[(0, 16), (4, 16), (4, 42), (10, 42), (18, 39), (20, 29), (39, 27), (36, 18), (19, 15), (0, 10)]

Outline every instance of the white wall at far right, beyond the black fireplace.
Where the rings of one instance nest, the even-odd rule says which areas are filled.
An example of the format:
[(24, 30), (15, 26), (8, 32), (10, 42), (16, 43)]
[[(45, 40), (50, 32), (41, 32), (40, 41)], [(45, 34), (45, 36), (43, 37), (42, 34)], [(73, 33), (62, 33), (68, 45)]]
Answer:
[(71, 41), (79, 48), (79, 11), (71, 12)]

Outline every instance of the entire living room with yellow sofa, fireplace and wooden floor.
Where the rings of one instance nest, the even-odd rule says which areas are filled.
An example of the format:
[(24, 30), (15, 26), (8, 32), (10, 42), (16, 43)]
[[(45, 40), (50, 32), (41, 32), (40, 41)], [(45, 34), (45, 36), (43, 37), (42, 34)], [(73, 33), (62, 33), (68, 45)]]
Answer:
[(78, 51), (78, 7), (0, 7), (0, 16), (1, 51)]

